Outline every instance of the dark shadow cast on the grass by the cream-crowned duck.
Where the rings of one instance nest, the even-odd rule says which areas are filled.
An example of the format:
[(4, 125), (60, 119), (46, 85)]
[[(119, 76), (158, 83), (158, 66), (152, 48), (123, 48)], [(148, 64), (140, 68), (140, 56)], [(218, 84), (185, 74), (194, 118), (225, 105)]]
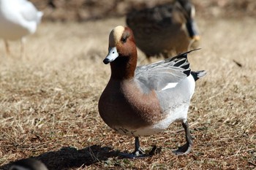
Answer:
[[(77, 150), (74, 147), (62, 147), (61, 150), (45, 152), (34, 158), (45, 163), (49, 170), (62, 170), (106, 161), (108, 158), (117, 157), (119, 153), (110, 147), (92, 145), (82, 150)], [(0, 169), (7, 170), (10, 165), (11, 163), (8, 163)]]

